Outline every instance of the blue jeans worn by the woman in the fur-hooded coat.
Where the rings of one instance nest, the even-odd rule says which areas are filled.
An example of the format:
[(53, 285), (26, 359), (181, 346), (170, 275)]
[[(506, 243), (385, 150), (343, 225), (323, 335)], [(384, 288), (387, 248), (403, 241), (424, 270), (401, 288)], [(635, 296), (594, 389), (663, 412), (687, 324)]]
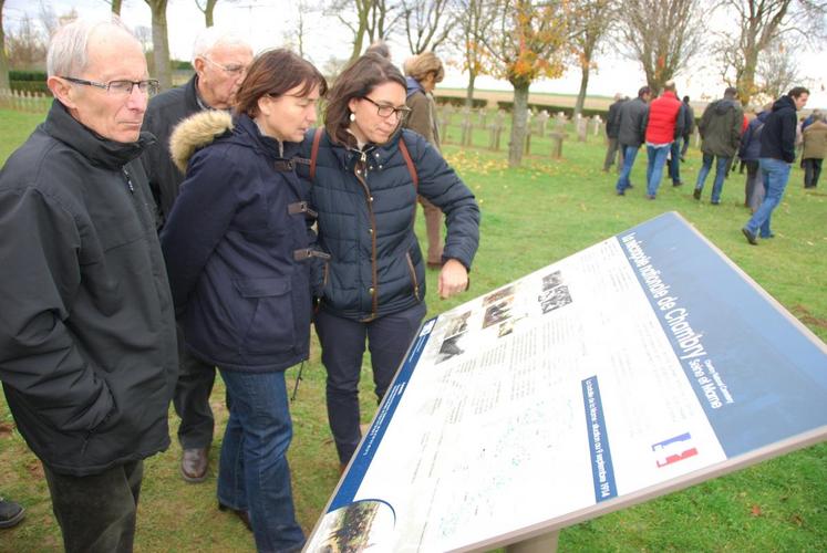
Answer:
[(292, 421), (285, 373), (219, 369), (230, 415), (221, 444), (218, 501), (249, 512), (258, 551), (298, 551), (304, 534), (296, 522), (286, 457)]

